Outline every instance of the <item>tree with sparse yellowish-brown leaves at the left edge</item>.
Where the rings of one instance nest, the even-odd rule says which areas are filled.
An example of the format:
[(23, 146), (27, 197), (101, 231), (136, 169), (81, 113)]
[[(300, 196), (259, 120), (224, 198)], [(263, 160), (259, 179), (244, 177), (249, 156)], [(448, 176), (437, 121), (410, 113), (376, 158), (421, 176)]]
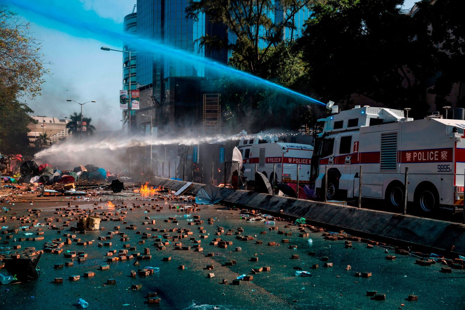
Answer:
[(21, 100), (40, 95), (44, 68), (40, 42), (28, 23), (0, 6), (0, 146), (1, 152), (23, 152), (33, 111)]

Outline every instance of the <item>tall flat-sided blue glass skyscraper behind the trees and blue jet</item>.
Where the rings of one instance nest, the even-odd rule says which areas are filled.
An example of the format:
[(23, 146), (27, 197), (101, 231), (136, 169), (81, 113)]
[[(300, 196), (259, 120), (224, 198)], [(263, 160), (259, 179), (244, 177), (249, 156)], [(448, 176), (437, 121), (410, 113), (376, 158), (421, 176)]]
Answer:
[[(186, 19), (187, 5), (188, 0), (137, 0), (137, 36), (226, 64), (226, 49), (214, 50), (200, 46), (198, 39), (210, 34), (233, 41), (234, 36), (228, 35), (225, 25), (209, 22), (204, 13), (199, 14), (198, 20)], [(284, 10), (269, 14), (276, 23), (286, 18)], [(306, 8), (301, 9), (294, 20), (297, 30), (286, 28), (282, 40), (298, 37), (310, 14)], [(259, 47), (266, 47), (266, 42), (260, 40)], [(153, 115), (160, 131), (164, 127), (199, 128), (202, 96), (216, 92), (213, 87), (215, 75), (204, 64), (164, 57), (157, 51), (145, 51), (143, 47), (138, 47), (138, 52), (141, 53), (135, 58), (135, 71), (141, 101), (137, 114)], [(147, 118), (137, 117), (139, 126), (144, 127), (147, 122)]]

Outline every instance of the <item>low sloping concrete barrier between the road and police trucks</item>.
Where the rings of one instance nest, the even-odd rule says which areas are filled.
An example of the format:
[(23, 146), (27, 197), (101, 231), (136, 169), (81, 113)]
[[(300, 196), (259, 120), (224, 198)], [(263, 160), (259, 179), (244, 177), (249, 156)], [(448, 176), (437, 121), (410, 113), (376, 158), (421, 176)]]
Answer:
[[(155, 178), (152, 184), (179, 190), (186, 182)], [(201, 186), (194, 183), (189, 194), (195, 195)], [(347, 231), (359, 231), (442, 251), (449, 251), (453, 245), (455, 252), (465, 253), (463, 224), (250, 191), (234, 191), (228, 188), (222, 188), (221, 195), (224, 201), (236, 204), (237, 207), (244, 206), (306, 218), (315, 223), (333, 225)]]

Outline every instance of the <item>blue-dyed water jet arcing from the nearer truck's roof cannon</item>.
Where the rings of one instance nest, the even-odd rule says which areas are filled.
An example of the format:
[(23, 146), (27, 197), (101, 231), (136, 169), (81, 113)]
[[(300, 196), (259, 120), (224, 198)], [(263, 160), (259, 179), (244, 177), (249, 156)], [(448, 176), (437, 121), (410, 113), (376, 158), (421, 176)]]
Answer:
[[(256, 82), (263, 86), (269, 86), (280, 92), (294, 95), (299, 98), (308, 100), (312, 103), (326, 106), (326, 104), (324, 104), (323, 102), (317, 99), (306, 96), (300, 92), (293, 91), (292, 89), (286, 88), (279, 84), (275, 84), (269, 80), (259, 78), (258, 76), (252, 75), (250, 73), (246, 73), (246, 72), (234, 69), (233, 67), (220, 64), (216, 61), (213, 61), (212, 59), (200, 57), (200, 56), (194, 55), (193, 53), (189, 53), (184, 50), (176, 49), (173, 46), (169, 46), (169, 45), (157, 42), (155, 40), (147, 40), (147, 39), (143, 39), (143, 38), (140, 38), (140, 37), (128, 34), (128, 33), (124, 33), (122, 31), (111, 29), (111, 26), (109, 26), (110, 24), (106, 23), (106, 20), (100, 19), (100, 20), (103, 20), (103, 22), (96, 22), (96, 20), (93, 19), (95, 16), (89, 16), (90, 14), (89, 12), (86, 12), (87, 14), (86, 19), (84, 18), (81, 19), (79, 18), (79, 13), (81, 12), (76, 12), (74, 10), (72, 13), (67, 12), (65, 14), (64, 10), (56, 9), (55, 7), (51, 6), (50, 3), (48, 4), (43, 3), (41, 5), (40, 4), (41, 1), (29, 2), (29, 1), (24, 1), (24, 0), (1, 0), (0, 2), (4, 2), (6, 4), (9, 3), (10, 5), (19, 7), (23, 10), (26, 10), (33, 14), (44, 17), (47, 20), (53, 20), (55, 22), (58, 22), (66, 26), (68, 29), (69, 28), (73, 29), (75, 35), (78, 37), (86, 37), (85, 35), (83, 35), (84, 34), (83, 30), (86, 30), (89, 33), (93, 33), (93, 39), (95, 39), (96, 37), (99, 37), (100, 39), (104, 39), (105, 41), (110, 40), (114, 46), (122, 46), (122, 45), (143, 46), (143, 50), (157, 51), (155, 53), (163, 54), (165, 57), (169, 57), (169, 58), (177, 57), (179, 58), (179, 59), (176, 59), (177, 61), (182, 61), (182, 62), (189, 63), (189, 64), (192, 64), (192, 62), (195, 62), (195, 63), (207, 65), (209, 70), (213, 69), (220, 74), (230, 74), (239, 79)], [(76, 7), (76, 9), (80, 9), (81, 11), (83, 10), (82, 7)], [(93, 20), (93, 22), (88, 23), (88, 22), (83, 22), (81, 20)], [(113, 26), (114, 25), (115, 24), (113, 23)], [(48, 26), (51, 26), (51, 25), (48, 25)], [(53, 26), (53, 28), (60, 30), (56, 26)]]

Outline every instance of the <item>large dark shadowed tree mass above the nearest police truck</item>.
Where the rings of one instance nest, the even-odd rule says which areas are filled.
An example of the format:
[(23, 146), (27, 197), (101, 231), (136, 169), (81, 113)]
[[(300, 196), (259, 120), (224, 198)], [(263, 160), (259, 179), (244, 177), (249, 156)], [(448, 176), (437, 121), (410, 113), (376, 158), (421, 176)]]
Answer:
[[(431, 5), (426, 0), (410, 16), (400, 14), (403, 2), (329, 0), (315, 5), (298, 40), (309, 66), (308, 87), (343, 107), (352, 94), (361, 94), (391, 108), (413, 108), (411, 116), (424, 117), (427, 81), (438, 77), (434, 91), (441, 100), (463, 76), (458, 66), (464, 57), (463, 21), (452, 18), (464, 4), (447, 0)], [(452, 18), (445, 17), (448, 13)]]

